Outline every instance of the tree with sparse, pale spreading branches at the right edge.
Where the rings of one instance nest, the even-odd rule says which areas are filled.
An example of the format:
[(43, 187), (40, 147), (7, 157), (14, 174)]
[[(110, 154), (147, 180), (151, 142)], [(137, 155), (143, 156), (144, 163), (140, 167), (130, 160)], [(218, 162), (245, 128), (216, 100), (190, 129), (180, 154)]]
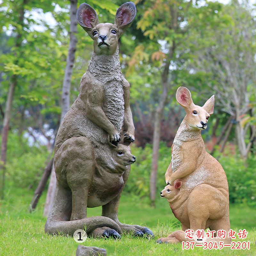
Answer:
[[(231, 2), (223, 8), (221, 15), (228, 22), (218, 29), (209, 24), (207, 32), (200, 34), (194, 67), (209, 74), (207, 84), (217, 93), (216, 103), (222, 111), (234, 117), (232, 123), (236, 124), (238, 149), (245, 160), (256, 132), (255, 106), (252, 104), (256, 92), (256, 21), (246, 2)], [(208, 45), (202, 44), (205, 41)]]

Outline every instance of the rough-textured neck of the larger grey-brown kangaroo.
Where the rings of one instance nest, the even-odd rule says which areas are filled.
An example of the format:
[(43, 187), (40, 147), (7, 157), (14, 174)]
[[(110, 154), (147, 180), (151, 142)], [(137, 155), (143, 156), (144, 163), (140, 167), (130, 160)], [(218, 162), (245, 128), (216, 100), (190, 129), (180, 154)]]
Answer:
[(93, 52), (88, 71), (102, 82), (121, 79), (122, 71), (118, 52), (118, 48), (113, 55), (97, 55)]

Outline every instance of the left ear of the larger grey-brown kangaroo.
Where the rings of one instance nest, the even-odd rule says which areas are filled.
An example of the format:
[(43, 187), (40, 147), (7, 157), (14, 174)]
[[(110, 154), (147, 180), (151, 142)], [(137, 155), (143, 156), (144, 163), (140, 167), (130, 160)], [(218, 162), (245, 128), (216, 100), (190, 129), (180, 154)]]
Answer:
[(99, 23), (96, 11), (89, 4), (83, 3), (77, 9), (76, 19), (79, 25), (93, 38), (92, 28)]

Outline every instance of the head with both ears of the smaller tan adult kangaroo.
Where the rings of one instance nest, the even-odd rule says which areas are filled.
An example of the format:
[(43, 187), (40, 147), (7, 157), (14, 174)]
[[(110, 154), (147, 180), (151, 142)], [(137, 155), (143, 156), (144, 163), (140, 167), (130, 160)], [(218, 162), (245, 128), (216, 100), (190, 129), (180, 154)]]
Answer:
[(214, 95), (207, 100), (203, 107), (193, 103), (191, 93), (186, 87), (179, 87), (176, 92), (176, 100), (185, 108), (187, 113), (186, 121), (194, 129), (204, 130), (207, 128), (207, 122), (214, 109)]

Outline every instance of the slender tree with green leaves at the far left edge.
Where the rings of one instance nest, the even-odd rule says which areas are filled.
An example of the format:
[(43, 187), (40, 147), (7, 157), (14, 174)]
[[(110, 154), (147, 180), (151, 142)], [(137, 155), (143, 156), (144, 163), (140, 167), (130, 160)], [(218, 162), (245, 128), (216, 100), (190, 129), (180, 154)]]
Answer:
[[(5, 164), (6, 164), (6, 152), (7, 152), (7, 139), (9, 132), (9, 124), (11, 118), (12, 101), (15, 93), (15, 89), (21, 86), (21, 81), (30, 75), (30, 79), (38, 76), (32, 74), (32, 70), (28, 71), (28, 59), (26, 58), (26, 51), (28, 50), (27, 40), (29, 38), (29, 26), (35, 24), (35, 20), (26, 18), (27, 7), (29, 0), (6, 2), (1, 8), (1, 32), (8, 30), (10, 36), (8, 37), (8, 45), (10, 51), (1, 56), (5, 65), (1, 65), (1, 71), (6, 71), (3, 78), (7, 78), (5, 82), (1, 82), (8, 90), (8, 97), (5, 105), (4, 122), (2, 129), (2, 143), (1, 143), (1, 163), (0, 171), (0, 194), (1, 198), (4, 197), (4, 180), (5, 180)], [(29, 63), (30, 65), (32, 63)], [(38, 75), (38, 74), (37, 74)], [(5, 87), (5, 88), (6, 88)]]

